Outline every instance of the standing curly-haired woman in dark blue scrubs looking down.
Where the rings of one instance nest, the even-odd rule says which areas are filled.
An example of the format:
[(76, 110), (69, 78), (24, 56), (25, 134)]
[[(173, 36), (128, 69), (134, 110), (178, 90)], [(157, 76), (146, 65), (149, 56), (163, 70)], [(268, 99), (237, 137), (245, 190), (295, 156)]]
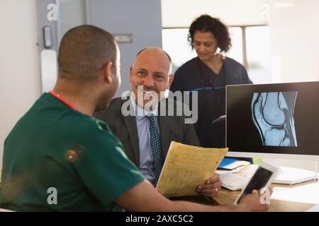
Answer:
[(197, 57), (175, 73), (170, 90), (198, 91), (196, 133), (203, 147), (225, 147), (225, 85), (252, 83), (242, 64), (222, 53), (231, 47), (228, 28), (217, 18), (203, 15), (191, 24), (189, 41)]

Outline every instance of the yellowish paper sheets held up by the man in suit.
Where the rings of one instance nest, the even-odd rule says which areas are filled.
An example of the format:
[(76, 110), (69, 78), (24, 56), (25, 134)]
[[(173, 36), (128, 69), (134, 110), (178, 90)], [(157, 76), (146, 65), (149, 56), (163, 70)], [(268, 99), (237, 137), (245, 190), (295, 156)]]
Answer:
[(196, 187), (211, 177), (228, 148), (198, 148), (172, 141), (156, 190), (164, 196), (198, 195)]

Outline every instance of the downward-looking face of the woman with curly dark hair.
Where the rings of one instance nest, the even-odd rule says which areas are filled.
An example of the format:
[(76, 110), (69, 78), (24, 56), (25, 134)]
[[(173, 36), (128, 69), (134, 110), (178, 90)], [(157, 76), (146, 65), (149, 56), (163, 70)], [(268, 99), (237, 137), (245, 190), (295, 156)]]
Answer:
[(194, 32), (194, 49), (201, 61), (213, 59), (218, 48), (218, 42), (212, 32)]

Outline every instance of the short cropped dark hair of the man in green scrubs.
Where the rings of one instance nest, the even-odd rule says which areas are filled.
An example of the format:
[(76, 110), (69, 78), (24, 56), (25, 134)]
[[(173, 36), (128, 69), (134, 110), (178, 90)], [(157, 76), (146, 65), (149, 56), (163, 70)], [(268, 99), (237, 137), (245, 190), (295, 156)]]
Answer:
[(116, 41), (113, 35), (92, 25), (69, 30), (59, 49), (59, 78), (92, 81), (108, 61), (116, 69)]

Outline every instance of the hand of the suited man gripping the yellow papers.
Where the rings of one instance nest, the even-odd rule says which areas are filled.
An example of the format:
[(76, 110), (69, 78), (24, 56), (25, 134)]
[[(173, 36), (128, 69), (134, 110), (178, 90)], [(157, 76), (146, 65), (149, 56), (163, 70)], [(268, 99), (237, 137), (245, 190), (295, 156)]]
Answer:
[(221, 185), (219, 174), (214, 174), (206, 180), (205, 184), (198, 185), (196, 191), (203, 196), (213, 197), (221, 189)]

